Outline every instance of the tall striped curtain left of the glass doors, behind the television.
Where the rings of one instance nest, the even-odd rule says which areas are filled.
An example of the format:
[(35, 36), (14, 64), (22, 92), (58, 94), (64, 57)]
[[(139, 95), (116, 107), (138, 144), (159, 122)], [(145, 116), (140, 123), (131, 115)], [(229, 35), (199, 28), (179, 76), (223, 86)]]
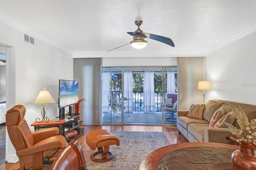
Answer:
[(101, 58), (74, 59), (74, 79), (79, 81), (80, 99), (85, 99), (80, 119), (84, 125), (102, 125), (101, 75)]

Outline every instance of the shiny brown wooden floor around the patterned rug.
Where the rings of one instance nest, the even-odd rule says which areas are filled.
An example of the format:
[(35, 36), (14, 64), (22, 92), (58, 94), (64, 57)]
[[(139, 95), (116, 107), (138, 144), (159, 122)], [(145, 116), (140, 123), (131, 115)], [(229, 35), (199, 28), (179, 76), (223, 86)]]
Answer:
[[(188, 142), (182, 134), (178, 134), (178, 130), (176, 126), (134, 126), (134, 125), (103, 125), (103, 126), (80, 126), (84, 128), (84, 133), (77, 138), (76, 140), (81, 144), (84, 152), (84, 156), (86, 162), (90, 160), (90, 154), (92, 154), (92, 150), (86, 144), (86, 134), (92, 130), (97, 129), (107, 129), (112, 131), (143, 131), (143, 132), (164, 132), (166, 138), (170, 142), (170, 144)], [(5, 130), (5, 129), (4, 129)], [(2, 129), (0, 128), (0, 134)], [(2, 138), (2, 136), (0, 136)], [(5, 150), (1, 148), (2, 142), (0, 142), (0, 153), (2, 155)], [(0, 165), (0, 170), (18, 170), (19, 169), (19, 162), (16, 163), (4, 163)], [(49, 166), (44, 165), (43, 170), (48, 170)]]

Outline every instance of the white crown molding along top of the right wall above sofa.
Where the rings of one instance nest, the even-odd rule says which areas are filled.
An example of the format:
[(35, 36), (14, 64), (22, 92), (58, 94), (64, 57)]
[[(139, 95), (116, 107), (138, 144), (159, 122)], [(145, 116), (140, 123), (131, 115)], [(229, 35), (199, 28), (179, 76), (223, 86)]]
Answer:
[(220, 43), (217, 43), (216, 45), (214, 45), (210, 48), (208, 48), (206, 51), (207, 51), (207, 53), (211, 53), (211, 52), (215, 51), (216, 49), (224, 47), (225, 45), (228, 45), (228, 44), (230, 44), (230, 43), (232, 43), (236, 40), (239, 40), (239, 39), (255, 32), (255, 31), (256, 31), (256, 25), (251, 26), (250, 28), (248, 28), (248, 29), (246, 29), (246, 30), (244, 30), (244, 31), (242, 31), (242, 32), (240, 32), (240, 33), (238, 33), (238, 34), (220, 42)]

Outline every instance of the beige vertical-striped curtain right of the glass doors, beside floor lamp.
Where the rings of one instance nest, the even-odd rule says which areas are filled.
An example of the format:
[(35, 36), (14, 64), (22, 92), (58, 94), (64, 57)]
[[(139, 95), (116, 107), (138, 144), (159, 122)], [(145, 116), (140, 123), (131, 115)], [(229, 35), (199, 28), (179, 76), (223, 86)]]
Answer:
[(205, 80), (205, 57), (177, 57), (178, 109), (188, 110), (192, 104), (203, 103), (198, 81)]

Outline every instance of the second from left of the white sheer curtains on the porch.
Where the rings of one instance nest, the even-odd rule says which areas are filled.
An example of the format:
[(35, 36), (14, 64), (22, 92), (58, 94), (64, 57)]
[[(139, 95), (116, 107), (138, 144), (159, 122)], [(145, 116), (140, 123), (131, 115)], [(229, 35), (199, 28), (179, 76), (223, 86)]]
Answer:
[(133, 81), (132, 81), (132, 71), (124, 71), (124, 97), (127, 99), (131, 99), (126, 102), (126, 111), (132, 111), (132, 87), (133, 87)]

